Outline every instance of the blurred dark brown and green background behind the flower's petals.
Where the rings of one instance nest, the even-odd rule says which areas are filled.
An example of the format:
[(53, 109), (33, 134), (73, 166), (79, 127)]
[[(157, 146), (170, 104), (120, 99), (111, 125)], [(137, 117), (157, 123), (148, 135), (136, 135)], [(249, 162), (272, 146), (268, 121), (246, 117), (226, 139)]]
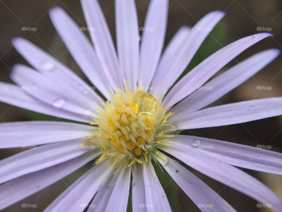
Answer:
[[(115, 11), (113, 0), (100, 1), (105, 17), (108, 21), (110, 31), (115, 41)], [(140, 27), (143, 26), (149, 0), (137, 0), (137, 12)], [(48, 10), (53, 6), (61, 6), (75, 20), (80, 27), (86, 27), (80, 1), (67, 0), (0, 0), (0, 76), (1, 81), (11, 82), (9, 73), (15, 63), (27, 64), (11, 45), (11, 38), (24, 37), (50, 54), (61, 57), (70, 69), (86, 80), (85, 76), (75, 64), (71, 55), (66, 52), (66, 47), (56, 33), (48, 16)], [(242, 37), (262, 31), (270, 31), (274, 37), (269, 37), (255, 44), (239, 55), (226, 67), (242, 61), (252, 54), (268, 48), (282, 49), (282, 1), (279, 0), (170, 0), (167, 36), (165, 44), (182, 25), (193, 26), (205, 14), (213, 10), (226, 12), (226, 17), (214, 28), (209, 37), (202, 44), (199, 52), (194, 57), (187, 71), (204, 60), (210, 54), (221, 47)], [(22, 27), (35, 27), (36, 31), (23, 31)], [(258, 28), (259, 27), (259, 28)], [(258, 31), (262, 29), (262, 31)], [(87, 35), (89, 36), (88, 32)], [(66, 52), (66, 53), (65, 53)], [(225, 67), (225, 68), (226, 68)], [(224, 69), (225, 69), (224, 68)], [(224, 70), (222, 69), (222, 70)], [(221, 71), (220, 71), (221, 72)], [(219, 73), (220, 73), (219, 72)], [(219, 100), (221, 104), (259, 99), (264, 97), (282, 96), (282, 56), (264, 68), (240, 87)], [(268, 86), (271, 90), (257, 90), (257, 86)], [(219, 104), (215, 103), (214, 105)], [(0, 103), (0, 122), (24, 121), (24, 120), (53, 120), (53, 117), (38, 115), (34, 112), (22, 110), (4, 103)], [(215, 138), (234, 143), (240, 143), (256, 147), (257, 145), (271, 145), (271, 150), (282, 153), (282, 119), (273, 117), (254, 122), (231, 125), (227, 127), (213, 127), (184, 132), (201, 137)], [(22, 149), (0, 150), (0, 159), (18, 153)], [(40, 191), (23, 201), (6, 208), (4, 211), (42, 211), (62, 191), (84, 173), (89, 165), (81, 168), (72, 175)], [(235, 191), (228, 186), (212, 180), (211, 178), (189, 168), (194, 174), (207, 183), (214, 191), (218, 192), (237, 211), (272, 211), (268, 208), (258, 208), (255, 200)], [(268, 185), (282, 198), (282, 177), (279, 175), (260, 173), (245, 170), (247, 173)], [(158, 170), (158, 176), (164, 190), (167, 193), (173, 211), (199, 211), (197, 206), (186, 196), (186, 194), (171, 182), (171, 178)], [(95, 179), (93, 179), (95, 180)], [(9, 197), (7, 197), (9, 198)], [(22, 208), (22, 203), (36, 204), (37, 207)], [(189, 208), (189, 209), (188, 209)], [(129, 201), (129, 209), (130, 201)]]

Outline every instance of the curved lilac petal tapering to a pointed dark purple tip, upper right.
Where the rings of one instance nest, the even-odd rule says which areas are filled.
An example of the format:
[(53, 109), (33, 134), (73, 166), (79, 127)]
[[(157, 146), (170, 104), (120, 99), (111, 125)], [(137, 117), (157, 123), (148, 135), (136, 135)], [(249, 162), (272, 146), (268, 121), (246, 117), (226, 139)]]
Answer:
[(179, 80), (164, 98), (163, 105), (166, 108), (172, 107), (174, 104), (197, 90), (218, 72), (219, 69), (224, 67), (241, 52), (271, 35), (272, 34), (270, 33), (250, 35), (218, 50)]

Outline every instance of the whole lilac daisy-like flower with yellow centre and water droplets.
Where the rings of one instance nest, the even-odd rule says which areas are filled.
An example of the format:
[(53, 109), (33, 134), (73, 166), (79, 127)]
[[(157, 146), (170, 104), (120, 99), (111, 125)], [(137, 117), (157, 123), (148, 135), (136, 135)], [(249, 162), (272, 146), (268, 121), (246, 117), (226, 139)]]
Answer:
[[(231, 125), (282, 114), (281, 97), (204, 108), (279, 55), (277, 49), (265, 50), (207, 82), (245, 49), (272, 35), (255, 34), (227, 45), (174, 85), (210, 32), (201, 29), (214, 27), (223, 12), (207, 14), (192, 28), (180, 28), (162, 53), (168, 0), (150, 2), (145, 26), (141, 28), (135, 1), (118, 0), (116, 52), (98, 1), (82, 0), (82, 7), (94, 47), (83, 29), (62, 9), (51, 9), (50, 16), (66, 47), (100, 95), (59, 58), (51, 57), (25, 39), (12, 40), (34, 69), (15, 65), (11, 79), (16, 85), (1, 82), (0, 100), (86, 124), (2, 123), (0, 148), (34, 149), (0, 161), (0, 209), (47, 188), (92, 161), (94, 165), (45, 211), (126, 211), (130, 189), (133, 211), (171, 211), (155, 164), (171, 175), (200, 210), (235, 211), (176, 161), (179, 160), (281, 211), (282, 201), (273, 191), (236, 168), (282, 174), (280, 153), (180, 135), (184, 129)], [(213, 89), (199, 89), (202, 85)]]

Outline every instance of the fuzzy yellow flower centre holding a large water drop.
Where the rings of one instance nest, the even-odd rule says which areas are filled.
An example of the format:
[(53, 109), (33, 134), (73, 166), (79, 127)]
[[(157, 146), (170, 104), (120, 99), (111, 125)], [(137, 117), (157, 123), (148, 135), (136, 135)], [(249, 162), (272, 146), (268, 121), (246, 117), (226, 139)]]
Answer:
[(126, 89), (110, 95), (110, 100), (102, 102), (105, 110), (91, 123), (98, 125), (99, 131), (91, 133), (90, 140), (84, 143), (101, 147), (96, 163), (115, 158), (114, 164), (129, 167), (156, 156), (167, 160), (157, 147), (168, 146), (165, 140), (174, 136), (167, 133), (169, 126), (165, 124), (172, 113), (166, 114), (160, 107), (161, 100), (139, 88), (135, 93)]

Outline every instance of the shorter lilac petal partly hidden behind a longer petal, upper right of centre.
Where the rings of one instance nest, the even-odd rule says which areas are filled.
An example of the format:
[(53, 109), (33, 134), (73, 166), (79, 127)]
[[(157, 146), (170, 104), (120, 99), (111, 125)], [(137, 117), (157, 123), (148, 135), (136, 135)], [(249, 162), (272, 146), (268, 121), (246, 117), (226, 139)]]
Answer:
[[(160, 59), (160, 64), (157, 70), (159, 69), (162, 69), (162, 71), (165, 70), (167, 68), (167, 65), (172, 64), (177, 59), (177, 55), (185, 50), (184, 44), (188, 39), (190, 30), (191, 28), (187, 26), (183, 26), (179, 28), (179, 30), (173, 36), (167, 47), (164, 49), (164, 53), (162, 54), (162, 57)], [(161, 66), (165, 66), (165, 67), (161, 67)], [(156, 75), (157, 74), (158, 73), (156, 73)], [(163, 73), (163, 75), (165, 75), (165, 72)], [(158, 75), (158, 77), (160, 77), (160, 75)], [(154, 87), (152, 86), (149, 91), (153, 95), (158, 95), (162, 93), (160, 92), (162, 90), (161, 86), (159, 87), (159, 85), (156, 85), (155, 87), (154, 80), (158, 81), (158, 77), (155, 76), (153, 78), (152, 85), (154, 85)]]

